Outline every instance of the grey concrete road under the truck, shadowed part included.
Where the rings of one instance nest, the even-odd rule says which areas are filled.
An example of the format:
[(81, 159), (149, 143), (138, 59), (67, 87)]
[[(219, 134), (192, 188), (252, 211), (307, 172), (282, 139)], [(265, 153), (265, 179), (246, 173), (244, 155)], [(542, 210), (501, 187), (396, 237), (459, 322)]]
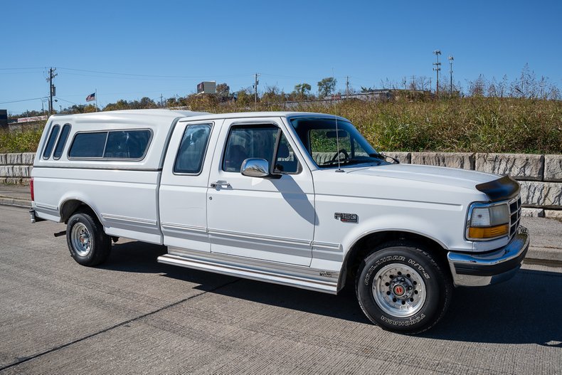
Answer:
[(455, 290), (437, 327), (383, 331), (341, 295), (156, 262), (119, 241), (70, 258), (63, 224), (0, 206), (0, 374), (562, 374), (562, 268)]

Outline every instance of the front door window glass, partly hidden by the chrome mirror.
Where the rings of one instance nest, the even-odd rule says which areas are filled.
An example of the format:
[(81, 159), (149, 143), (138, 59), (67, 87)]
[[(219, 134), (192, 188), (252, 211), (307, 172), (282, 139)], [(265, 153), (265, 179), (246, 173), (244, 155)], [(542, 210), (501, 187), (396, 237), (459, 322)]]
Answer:
[(275, 158), (274, 171), (277, 173), (299, 171), (295, 152), (280, 128), (275, 125), (238, 125), (230, 129), (224, 153), (223, 171), (240, 172), (242, 163), (249, 158), (265, 159), (270, 165)]

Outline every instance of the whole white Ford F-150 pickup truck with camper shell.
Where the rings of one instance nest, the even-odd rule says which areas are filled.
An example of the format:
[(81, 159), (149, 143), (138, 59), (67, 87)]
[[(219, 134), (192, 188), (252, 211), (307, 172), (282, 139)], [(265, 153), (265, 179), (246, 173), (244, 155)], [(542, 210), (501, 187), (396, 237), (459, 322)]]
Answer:
[(334, 294), (352, 284), (372, 322), (414, 334), (455, 286), (511, 277), (529, 237), (509, 176), (387, 160), (333, 115), (55, 115), (31, 221), (66, 223), (82, 265), (122, 236), (166, 245), (161, 263)]

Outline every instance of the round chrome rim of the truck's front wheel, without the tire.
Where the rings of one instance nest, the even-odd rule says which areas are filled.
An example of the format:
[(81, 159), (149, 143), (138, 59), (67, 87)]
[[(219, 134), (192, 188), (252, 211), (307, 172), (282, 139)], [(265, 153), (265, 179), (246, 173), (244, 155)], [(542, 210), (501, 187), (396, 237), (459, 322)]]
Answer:
[(418, 271), (399, 263), (384, 266), (373, 280), (378, 307), (393, 317), (411, 317), (425, 303), (425, 282)]

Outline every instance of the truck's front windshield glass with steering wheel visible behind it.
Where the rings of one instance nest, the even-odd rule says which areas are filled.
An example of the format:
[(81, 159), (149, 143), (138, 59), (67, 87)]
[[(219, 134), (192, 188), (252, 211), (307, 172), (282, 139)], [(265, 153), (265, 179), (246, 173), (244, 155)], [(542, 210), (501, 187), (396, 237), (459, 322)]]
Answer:
[(383, 162), (384, 157), (349, 121), (337, 119), (337, 132), (335, 117), (296, 117), (290, 122), (319, 168), (337, 167), (338, 160), (342, 167)]

